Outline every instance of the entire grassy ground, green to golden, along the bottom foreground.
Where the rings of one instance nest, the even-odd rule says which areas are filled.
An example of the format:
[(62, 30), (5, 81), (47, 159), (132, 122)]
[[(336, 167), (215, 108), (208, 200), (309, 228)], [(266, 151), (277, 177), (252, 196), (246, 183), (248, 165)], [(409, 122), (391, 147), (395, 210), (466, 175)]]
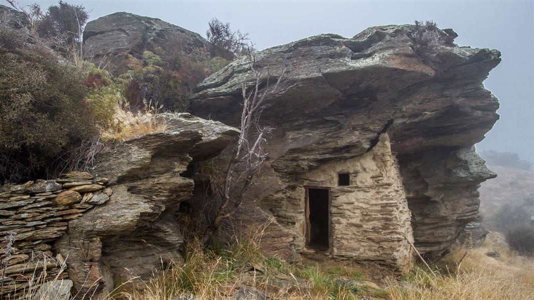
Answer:
[[(384, 277), (368, 282), (372, 270), (351, 263), (304, 261), (288, 264), (266, 258), (254, 242), (229, 250), (190, 247), (183, 263), (156, 274), (142, 291), (117, 291), (112, 298), (234, 299), (239, 287), (250, 286), (272, 299), (531, 299), (534, 259), (512, 253), (490, 234), (481, 248), (454, 250), (433, 265), (432, 275), (418, 266), (406, 278)], [(486, 253), (496, 250), (500, 257)]]

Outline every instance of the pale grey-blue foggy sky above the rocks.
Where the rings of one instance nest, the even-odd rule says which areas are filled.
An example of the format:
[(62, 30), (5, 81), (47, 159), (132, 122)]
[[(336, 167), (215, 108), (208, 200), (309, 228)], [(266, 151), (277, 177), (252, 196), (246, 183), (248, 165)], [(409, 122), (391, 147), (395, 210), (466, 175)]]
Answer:
[[(34, 2), (34, 1), (32, 1)], [(37, 1), (43, 7), (57, 1)], [(68, 1), (90, 20), (116, 11), (160, 18), (206, 35), (211, 18), (230, 22), (268, 48), (321, 33), (352, 37), (367, 27), (434, 20), (453, 28), (460, 46), (495, 48), (502, 62), (484, 86), (497, 96), (501, 118), (477, 150), (517, 152), (534, 161), (534, 4), (532, 1), (434, 2), (176, 2)], [(7, 3), (2, 0), (4, 5)], [(29, 3), (20, 1), (19, 3)]]

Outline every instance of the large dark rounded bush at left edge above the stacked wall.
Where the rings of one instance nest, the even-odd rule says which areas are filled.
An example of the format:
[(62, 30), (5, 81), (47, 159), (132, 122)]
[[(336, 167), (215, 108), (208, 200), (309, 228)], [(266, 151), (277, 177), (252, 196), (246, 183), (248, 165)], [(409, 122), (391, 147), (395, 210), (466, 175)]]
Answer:
[(0, 25), (0, 182), (54, 173), (98, 134), (83, 72), (26, 40)]

